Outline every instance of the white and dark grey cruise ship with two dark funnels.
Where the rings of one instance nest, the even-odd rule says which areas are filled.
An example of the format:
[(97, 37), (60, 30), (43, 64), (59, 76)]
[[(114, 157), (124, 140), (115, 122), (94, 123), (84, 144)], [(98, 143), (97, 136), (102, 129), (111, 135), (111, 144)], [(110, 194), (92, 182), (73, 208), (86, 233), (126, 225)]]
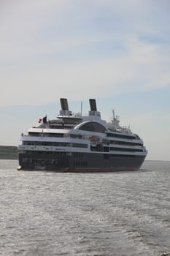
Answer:
[(60, 101), (57, 118), (47, 120), (45, 116), (20, 136), (18, 170), (82, 173), (140, 169), (147, 156), (144, 143), (129, 127), (120, 127), (113, 110), (107, 122), (101, 119), (96, 99), (89, 99), (88, 116), (70, 111), (67, 99)]

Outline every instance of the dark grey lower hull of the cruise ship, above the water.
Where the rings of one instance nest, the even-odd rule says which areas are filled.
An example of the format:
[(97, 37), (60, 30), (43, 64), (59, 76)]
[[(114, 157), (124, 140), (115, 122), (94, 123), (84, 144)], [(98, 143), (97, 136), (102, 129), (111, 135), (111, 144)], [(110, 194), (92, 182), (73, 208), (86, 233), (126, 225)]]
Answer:
[[(56, 172), (112, 172), (139, 170), (145, 157), (110, 156), (107, 154), (78, 154), (79, 157), (53, 158), (45, 154), (19, 154), (21, 170), (50, 170)], [(41, 158), (39, 158), (41, 157)]]

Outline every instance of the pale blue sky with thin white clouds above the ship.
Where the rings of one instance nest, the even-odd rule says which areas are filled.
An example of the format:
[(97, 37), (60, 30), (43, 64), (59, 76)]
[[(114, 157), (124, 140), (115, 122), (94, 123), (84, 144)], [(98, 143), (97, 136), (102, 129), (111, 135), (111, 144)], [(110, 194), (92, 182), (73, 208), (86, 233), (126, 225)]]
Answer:
[(170, 160), (169, 0), (1, 0), (0, 145), (18, 146), (59, 99), (102, 118), (120, 116)]

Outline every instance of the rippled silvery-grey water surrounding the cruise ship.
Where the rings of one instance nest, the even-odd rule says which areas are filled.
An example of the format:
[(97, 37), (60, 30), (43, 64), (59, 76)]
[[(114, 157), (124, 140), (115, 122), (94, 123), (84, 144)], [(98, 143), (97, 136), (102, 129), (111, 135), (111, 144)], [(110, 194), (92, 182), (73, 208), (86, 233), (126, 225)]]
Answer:
[(0, 255), (170, 254), (170, 162), (45, 173), (0, 160)]

